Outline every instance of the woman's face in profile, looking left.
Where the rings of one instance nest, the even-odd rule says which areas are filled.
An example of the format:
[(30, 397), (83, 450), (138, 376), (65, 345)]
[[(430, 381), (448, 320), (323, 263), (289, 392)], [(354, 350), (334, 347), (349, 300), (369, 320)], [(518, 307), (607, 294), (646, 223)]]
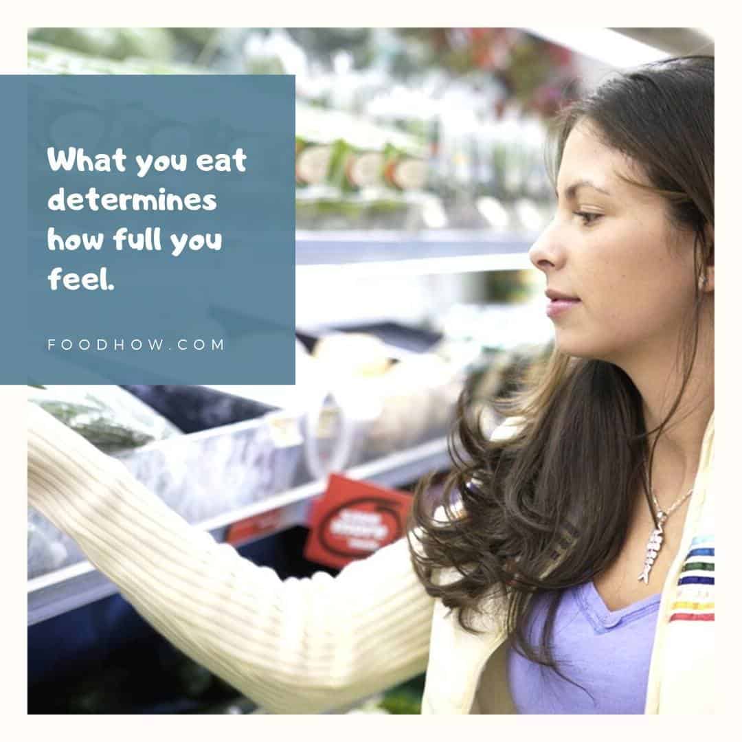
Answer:
[[(664, 200), (617, 172), (646, 182), (623, 154), (578, 124), (559, 168), (556, 214), (529, 257), (547, 289), (580, 299), (551, 316), (557, 347), (623, 365), (677, 341), (697, 279), (692, 233), (673, 237)], [(594, 186), (570, 191), (587, 180)]]

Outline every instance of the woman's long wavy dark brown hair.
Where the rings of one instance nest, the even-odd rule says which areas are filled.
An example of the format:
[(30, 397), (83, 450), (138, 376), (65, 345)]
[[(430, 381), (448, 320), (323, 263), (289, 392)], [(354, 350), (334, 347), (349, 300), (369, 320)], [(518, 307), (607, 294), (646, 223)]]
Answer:
[[(603, 144), (640, 165), (651, 186), (629, 182), (664, 198), (677, 234), (695, 234), (700, 276), (714, 260), (714, 58), (677, 57), (615, 73), (565, 107), (549, 140), (556, 145), (548, 155), (552, 183), (577, 122), (588, 122)], [(638, 487), (654, 513), (645, 486), (654, 447), (680, 404), (697, 354), (703, 296), (694, 283), (693, 315), (680, 344), (683, 383), (654, 430), (646, 430), (641, 395), (623, 370), (556, 347), (515, 393), (487, 401), (497, 416), (517, 422), (508, 439), (485, 435), (473, 413), (478, 401), (464, 390), (448, 439), (447, 519), (436, 518), (425, 479), (416, 488), (408, 532), (418, 577), (431, 596), (457, 611), (462, 628), (475, 631), (473, 614), (484, 609), (487, 594), (501, 591), (513, 648), (565, 677), (550, 650), (564, 588), (591, 580), (617, 557)], [(442, 568), (460, 577), (443, 585), (437, 579)], [(536, 595), (548, 600), (538, 643), (525, 630)]]

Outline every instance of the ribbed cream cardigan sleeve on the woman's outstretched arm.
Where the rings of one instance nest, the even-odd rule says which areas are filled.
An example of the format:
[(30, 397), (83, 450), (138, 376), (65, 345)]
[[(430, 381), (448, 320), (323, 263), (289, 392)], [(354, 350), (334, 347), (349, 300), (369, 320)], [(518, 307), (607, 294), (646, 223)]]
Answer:
[(29, 505), (160, 634), (269, 712), (338, 709), (424, 671), (433, 599), (405, 539), (337, 577), (282, 581), (41, 408), (27, 418)]

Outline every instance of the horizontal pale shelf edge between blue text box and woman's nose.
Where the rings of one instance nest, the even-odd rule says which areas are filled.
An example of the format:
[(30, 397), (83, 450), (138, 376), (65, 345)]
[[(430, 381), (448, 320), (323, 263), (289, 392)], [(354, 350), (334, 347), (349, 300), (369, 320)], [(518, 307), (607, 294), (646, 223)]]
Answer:
[(537, 234), (487, 230), (297, 231), (298, 273), (328, 269), (364, 276), (467, 273), (533, 268), (528, 249)]

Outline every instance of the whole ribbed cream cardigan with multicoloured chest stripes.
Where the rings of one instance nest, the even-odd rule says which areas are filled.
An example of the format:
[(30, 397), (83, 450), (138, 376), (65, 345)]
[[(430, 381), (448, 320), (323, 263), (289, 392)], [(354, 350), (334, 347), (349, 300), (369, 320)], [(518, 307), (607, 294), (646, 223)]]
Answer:
[[(463, 631), (418, 582), (404, 539), (338, 577), (282, 582), (188, 525), (121, 462), (27, 407), (29, 504), (157, 631), (267, 710), (338, 709), (427, 670), (423, 713), (515, 712), (502, 605), (479, 620), (483, 634)], [(714, 708), (713, 438), (712, 414), (663, 586), (647, 714)], [(698, 545), (706, 556), (695, 556)]]

